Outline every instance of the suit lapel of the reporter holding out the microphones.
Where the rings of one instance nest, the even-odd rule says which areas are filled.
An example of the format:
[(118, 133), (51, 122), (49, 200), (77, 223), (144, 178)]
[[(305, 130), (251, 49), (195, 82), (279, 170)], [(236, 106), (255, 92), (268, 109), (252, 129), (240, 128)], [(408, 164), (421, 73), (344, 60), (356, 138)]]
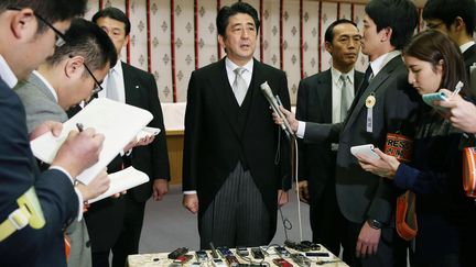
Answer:
[(350, 107), (350, 116), (347, 116), (344, 125), (351, 124), (360, 113), (360, 110), (365, 108), (365, 102), (368, 96), (375, 94), (379, 89), (383, 81), (386, 81), (393, 70), (401, 64), (400, 56), (396, 56), (392, 58), (387, 65), (378, 73), (376, 77), (370, 80), (367, 89), (361, 93), (359, 99), (354, 99), (354, 102)]

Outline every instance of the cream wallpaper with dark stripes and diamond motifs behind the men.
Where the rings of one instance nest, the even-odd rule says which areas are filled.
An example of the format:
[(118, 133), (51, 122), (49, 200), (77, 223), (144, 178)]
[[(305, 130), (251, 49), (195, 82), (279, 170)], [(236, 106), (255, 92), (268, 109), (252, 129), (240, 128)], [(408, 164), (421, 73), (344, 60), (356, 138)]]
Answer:
[[(89, 0), (86, 19), (102, 7), (125, 11), (131, 21), (122, 60), (155, 77), (161, 102), (186, 101), (191, 73), (225, 56), (218, 47), (217, 10), (235, 0)], [(363, 4), (306, 0), (247, 0), (262, 21), (256, 58), (286, 71), (292, 103), (299, 81), (329, 67), (324, 32), (337, 18), (361, 29)], [(360, 55), (356, 69), (365, 70)]]

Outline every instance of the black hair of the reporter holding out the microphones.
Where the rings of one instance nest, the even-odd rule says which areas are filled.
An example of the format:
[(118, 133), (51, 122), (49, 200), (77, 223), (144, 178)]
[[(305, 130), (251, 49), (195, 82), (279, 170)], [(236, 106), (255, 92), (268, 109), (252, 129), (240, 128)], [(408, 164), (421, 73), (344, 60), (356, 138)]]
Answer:
[(365, 11), (377, 25), (377, 32), (390, 27), (390, 44), (397, 49), (413, 36), (418, 23), (416, 7), (409, 0), (371, 0)]

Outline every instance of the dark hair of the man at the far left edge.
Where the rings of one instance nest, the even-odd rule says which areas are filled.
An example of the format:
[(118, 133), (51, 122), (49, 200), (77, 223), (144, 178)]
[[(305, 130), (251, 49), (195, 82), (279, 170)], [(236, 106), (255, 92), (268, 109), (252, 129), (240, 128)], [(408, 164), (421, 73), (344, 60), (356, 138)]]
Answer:
[[(50, 23), (66, 21), (75, 16), (82, 16), (86, 12), (87, 0), (1, 0), (0, 13), (8, 9), (32, 9)], [(47, 26), (39, 23), (37, 32), (43, 32)]]

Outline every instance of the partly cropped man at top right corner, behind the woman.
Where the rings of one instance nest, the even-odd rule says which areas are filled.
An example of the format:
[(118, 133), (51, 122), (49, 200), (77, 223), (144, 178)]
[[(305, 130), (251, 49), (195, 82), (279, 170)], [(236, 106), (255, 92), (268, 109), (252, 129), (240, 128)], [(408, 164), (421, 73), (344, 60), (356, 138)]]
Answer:
[[(476, 27), (476, 2), (474, 0), (429, 0), (422, 15), (428, 29), (446, 33), (459, 45), (469, 75), (470, 67), (476, 63), (476, 44), (473, 38)], [(470, 81), (476, 84), (474, 78)], [(472, 94), (476, 97), (475, 85), (472, 86)]]

